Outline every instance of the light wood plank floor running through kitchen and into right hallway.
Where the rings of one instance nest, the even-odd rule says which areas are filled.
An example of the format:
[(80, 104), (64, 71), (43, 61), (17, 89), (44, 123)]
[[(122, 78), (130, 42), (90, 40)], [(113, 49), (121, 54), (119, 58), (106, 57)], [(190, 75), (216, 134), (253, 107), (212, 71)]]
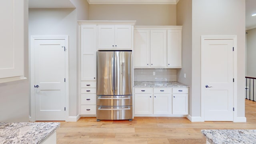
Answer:
[(247, 122), (190, 122), (180, 117), (61, 122), (58, 144), (206, 144), (202, 129), (256, 129), (256, 102), (246, 100)]

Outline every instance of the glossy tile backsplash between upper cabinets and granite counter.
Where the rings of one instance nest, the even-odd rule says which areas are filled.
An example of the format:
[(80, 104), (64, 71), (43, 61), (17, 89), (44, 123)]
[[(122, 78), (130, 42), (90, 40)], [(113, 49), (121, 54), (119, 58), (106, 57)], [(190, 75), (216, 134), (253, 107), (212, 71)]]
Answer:
[[(153, 75), (155, 72), (155, 75)], [(177, 81), (177, 70), (170, 68), (136, 68), (134, 81)]]

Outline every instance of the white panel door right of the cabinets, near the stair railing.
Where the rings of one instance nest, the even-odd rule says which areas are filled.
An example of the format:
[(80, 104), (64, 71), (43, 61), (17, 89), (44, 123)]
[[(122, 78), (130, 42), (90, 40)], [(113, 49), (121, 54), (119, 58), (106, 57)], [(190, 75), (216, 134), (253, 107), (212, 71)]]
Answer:
[(205, 121), (233, 121), (233, 40), (202, 39), (201, 75)]

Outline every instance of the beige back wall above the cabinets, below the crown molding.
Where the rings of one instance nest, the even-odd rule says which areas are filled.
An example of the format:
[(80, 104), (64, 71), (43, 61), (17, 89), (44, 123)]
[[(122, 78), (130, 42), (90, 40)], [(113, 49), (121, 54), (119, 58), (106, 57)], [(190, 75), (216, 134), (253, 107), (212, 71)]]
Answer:
[(89, 20), (136, 20), (136, 25), (176, 25), (176, 4), (91, 4)]

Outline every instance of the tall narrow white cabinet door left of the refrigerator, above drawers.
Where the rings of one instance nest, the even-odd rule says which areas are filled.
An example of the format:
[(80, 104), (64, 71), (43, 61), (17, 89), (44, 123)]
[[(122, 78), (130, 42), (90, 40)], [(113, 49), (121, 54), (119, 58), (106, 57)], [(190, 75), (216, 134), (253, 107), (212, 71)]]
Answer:
[(80, 27), (81, 80), (96, 80), (96, 38), (96, 25), (82, 25)]

